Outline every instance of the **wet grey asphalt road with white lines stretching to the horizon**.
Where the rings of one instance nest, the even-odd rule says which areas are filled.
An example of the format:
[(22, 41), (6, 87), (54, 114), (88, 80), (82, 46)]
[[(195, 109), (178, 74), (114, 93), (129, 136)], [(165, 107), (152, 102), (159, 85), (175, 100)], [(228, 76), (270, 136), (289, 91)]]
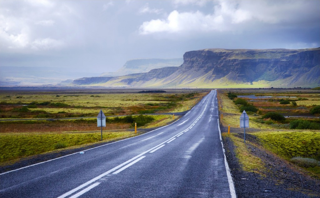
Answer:
[(0, 174), (0, 197), (235, 197), (216, 91), (171, 125)]

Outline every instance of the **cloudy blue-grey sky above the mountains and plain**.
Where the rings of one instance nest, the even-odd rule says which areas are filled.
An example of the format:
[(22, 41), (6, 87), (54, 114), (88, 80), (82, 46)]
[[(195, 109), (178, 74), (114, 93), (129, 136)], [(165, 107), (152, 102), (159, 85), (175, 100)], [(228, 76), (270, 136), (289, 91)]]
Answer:
[(114, 72), (186, 51), (320, 47), (320, 0), (0, 0), (0, 66)]

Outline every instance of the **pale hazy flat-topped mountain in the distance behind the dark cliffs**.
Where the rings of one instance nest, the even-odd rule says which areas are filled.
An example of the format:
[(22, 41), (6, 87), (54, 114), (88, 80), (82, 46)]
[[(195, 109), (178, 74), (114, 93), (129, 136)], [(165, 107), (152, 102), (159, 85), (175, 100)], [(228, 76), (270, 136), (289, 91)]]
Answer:
[(100, 76), (124, 76), (132, 73), (149, 72), (152, 69), (174, 66), (178, 67), (183, 63), (182, 58), (140, 58), (128, 60), (122, 68), (116, 72), (105, 72)]

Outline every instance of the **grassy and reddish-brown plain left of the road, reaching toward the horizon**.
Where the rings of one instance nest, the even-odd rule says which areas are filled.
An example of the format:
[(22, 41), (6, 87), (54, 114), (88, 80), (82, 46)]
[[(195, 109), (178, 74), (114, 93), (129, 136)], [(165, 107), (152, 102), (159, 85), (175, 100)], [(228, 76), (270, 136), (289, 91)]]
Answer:
[[(188, 110), (204, 95), (205, 93), (129, 93), (127, 95), (82, 93), (59, 96), (56, 93), (2, 94), (0, 95), (2, 117), (18, 119), (0, 121), (0, 150), (2, 151), (0, 164), (10, 164), (21, 157), (48, 151), (84, 146), (99, 142), (101, 139), (100, 128), (96, 126), (96, 118), (24, 121), (19, 118), (96, 116), (100, 109), (106, 115), (180, 112)], [(31, 106), (30, 103), (32, 103)], [(57, 103), (63, 105), (54, 105)], [(28, 106), (17, 106), (18, 104)], [(108, 106), (101, 106), (106, 104)], [(139, 128), (151, 128), (164, 126), (173, 120), (172, 115), (148, 115), (142, 117), (143, 122), (140, 123), (141, 119), (137, 120), (138, 117), (107, 118), (107, 127), (103, 128), (103, 141), (120, 140), (141, 134), (139, 129), (137, 134), (132, 130), (134, 122), (137, 122)], [(175, 119), (177, 118), (179, 117), (175, 116)]]

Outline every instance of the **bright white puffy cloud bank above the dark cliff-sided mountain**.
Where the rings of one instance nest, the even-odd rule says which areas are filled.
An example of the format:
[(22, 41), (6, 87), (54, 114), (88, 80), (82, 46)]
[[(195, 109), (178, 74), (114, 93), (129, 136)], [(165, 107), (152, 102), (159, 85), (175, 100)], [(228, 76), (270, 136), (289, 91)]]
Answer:
[[(184, 2), (184, 3), (183, 3)], [(196, 4), (198, 1), (176, 0), (180, 4)], [(203, 1), (205, 4), (206, 1)], [(284, 26), (313, 25), (320, 20), (319, 1), (249, 1), (220, 0), (213, 7), (213, 12), (172, 11), (166, 19), (153, 19), (140, 25), (140, 34), (160, 32), (191, 34), (208, 31), (241, 31), (245, 28), (255, 29), (254, 25)], [(311, 24), (312, 23), (312, 24)]]

